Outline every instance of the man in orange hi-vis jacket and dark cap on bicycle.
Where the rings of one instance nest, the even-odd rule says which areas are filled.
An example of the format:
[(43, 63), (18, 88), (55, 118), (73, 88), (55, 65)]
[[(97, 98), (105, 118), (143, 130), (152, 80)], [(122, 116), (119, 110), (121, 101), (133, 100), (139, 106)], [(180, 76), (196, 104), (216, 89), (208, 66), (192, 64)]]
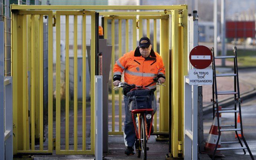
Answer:
[[(124, 71), (124, 81), (128, 84), (136, 86), (146, 86), (152, 82), (154, 77), (159, 78), (159, 83), (165, 82), (165, 70), (162, 57), (154, 52), (150, 39), (143, 37), (140, 39), (139, 46), (134, 50), (120, 57), (113, 68), (113, 85), (118, 86), (121, 83), (121, 75)], [(152, 91), (156, 90), (156, 83), (147, 87)], [(135, 143), (135, 129), (132, 121), (131, 112), (128, 107), (127, 93), (131, 90), (129, 87), (123, 87), (124, 104), (125, 104), (125, 121), (124, 121), (124, 142), (127, 147), (125, 154), (133, 155), (133, 147)], [(152, 102), (154, 112), (156, 112), (156, 97)], [(147, 125), (149, 131), (150, 125)], [(151, 132), (154, 129), (152, 126)]]

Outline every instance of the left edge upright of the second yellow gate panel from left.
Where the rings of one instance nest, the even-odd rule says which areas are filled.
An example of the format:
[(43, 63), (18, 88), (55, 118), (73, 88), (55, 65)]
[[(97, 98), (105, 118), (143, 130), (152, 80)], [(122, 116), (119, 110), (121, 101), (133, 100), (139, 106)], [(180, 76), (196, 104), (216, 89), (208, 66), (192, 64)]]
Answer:
[(60, 15), (56, 14), (56, 154), (60, 151)]

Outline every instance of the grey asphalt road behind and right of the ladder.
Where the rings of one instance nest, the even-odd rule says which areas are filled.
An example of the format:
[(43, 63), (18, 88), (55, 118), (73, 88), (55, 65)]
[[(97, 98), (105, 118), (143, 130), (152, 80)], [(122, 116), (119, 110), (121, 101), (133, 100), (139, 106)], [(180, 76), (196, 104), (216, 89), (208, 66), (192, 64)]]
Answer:
[[(228, 106), (231, 108), (233, 106)], [(243, 121), (243, 132), (247, 144), (252, 151), (253, 156), (256, 158), (256, 96), (245, 100), (241, 105), (241, 115)], [(222, 113), (221, 125), (233, 125), (234, 113)], [(212, 125), (212, 113), (204, 115), (204, 139), (208, 137), (209, 129)], [(221, 132), (221, 141), (236, 141), (235, 132)], [(239, 144), (223, 144), (221, 147), (239, 147)], [(242, 150), (227, 150), (222, 151), (226, 156), (224, 158), (215, 158), (216, 160), (250, 160), (248, 151), (246, 155)]]

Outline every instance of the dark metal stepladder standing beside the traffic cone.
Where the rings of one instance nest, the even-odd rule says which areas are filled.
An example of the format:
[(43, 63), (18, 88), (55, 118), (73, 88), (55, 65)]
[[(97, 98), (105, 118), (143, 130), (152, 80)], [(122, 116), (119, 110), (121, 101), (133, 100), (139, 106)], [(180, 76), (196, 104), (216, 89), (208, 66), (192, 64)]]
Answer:
[[(215, 116), (215, 111), (217, 112), (217, 120), (218, 120), (218, 140), (217, 144), (215, 146), (215, 150), (212, 156), (212, 160), (214, 160), (216, 151), (220, 150), (243, 150), (244, 154), (246, 154), (245, 149), (248, 150), (250, 157), (252, 160), (254, 160), (253, 155), (250, 151), (249, 146), (246, 143), (246, 140), (243, 135), (243, 125), (242, 125), (242, 116), (241, 116), (241, 99), (240, 99), (240, 91), (239, 91), (239, 78), (238, 78), (238, 68), (237, 68), (237, 49), (236, 47), (233, 47), (234, 55), (232, 56), (220, 56), (220, 57), (214, 57), (214, 48), (211, 49), (212, 51), (212, 70), (213, 70), (213, 84), (212, 84), (212, 106), (213, 106), (213, 117)], [(234, 73), (225, 73), (225, 74), (216, 74), (215, 69), (215, 59), (224, 59), (224, 58), (234, 58)], [(217, 81), (216, 77), (227, 77), (227, 76), (233, 76), (234, 77), (234, 90), (232, 91), (217, 91)], [(215, 100), (214, 100), (215, 95)], [(234, 95), (234, 108), (223, 108), (221, 111), (218, 111), (218, 95)], [(238, 102), (238, 110), (237, 110), (237, 102)], [(216, 106), (216, 107), (215, 107)], [(234, 113), (235, 116), (235, 125), (222, 125), (220, 126), (219, 121), (219, 113)], [(237, 128), (237, 113), (240, 114), (240, 128)], [(231, 127), (229, 129), (222, 129), (225, 127)], [(225, 131), (235, 131), (237, 135), (238, 141), (226, 141), (221, 142), (221, 144), (235, 144), (239, 143), (241, 147), (226, 147), (226, 148), (217, 148), (220, 140), (221, 132)], [(237, 131), (241, 131), (241, 139), (243, 140), (246, 147), (243, 147), (243, 144), (239, 138), (239, 135), (237, 134)]]

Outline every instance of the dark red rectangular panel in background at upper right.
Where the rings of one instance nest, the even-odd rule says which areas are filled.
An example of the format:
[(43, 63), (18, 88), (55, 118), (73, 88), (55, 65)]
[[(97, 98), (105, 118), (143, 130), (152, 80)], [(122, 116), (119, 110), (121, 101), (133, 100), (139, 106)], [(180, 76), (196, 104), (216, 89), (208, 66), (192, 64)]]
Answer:
[(227, 38), (255, 38), (255, 21), (227, 21)]

